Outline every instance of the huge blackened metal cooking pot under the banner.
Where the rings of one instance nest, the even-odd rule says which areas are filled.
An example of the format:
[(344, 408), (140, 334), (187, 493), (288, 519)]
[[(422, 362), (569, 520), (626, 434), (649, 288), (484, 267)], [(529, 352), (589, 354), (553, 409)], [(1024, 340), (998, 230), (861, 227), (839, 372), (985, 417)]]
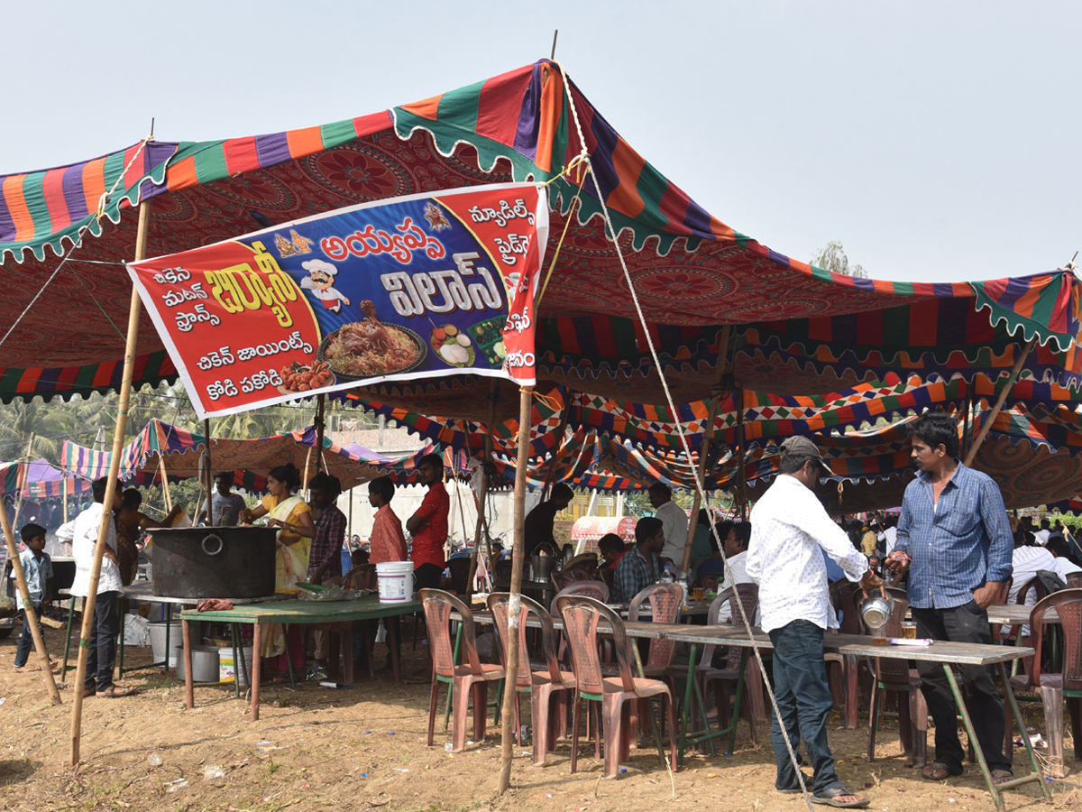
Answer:
[(162, 598), (262, 598), (274, 594), (274, 527), (158, 527), (154, 593)]

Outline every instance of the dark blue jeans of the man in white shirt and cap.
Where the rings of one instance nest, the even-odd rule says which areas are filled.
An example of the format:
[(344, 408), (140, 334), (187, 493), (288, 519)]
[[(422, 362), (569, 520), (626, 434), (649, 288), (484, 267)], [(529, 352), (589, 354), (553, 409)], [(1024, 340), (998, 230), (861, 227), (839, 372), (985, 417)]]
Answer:
[[(793, 620), (770, 632), (774, 643), (774, 695), (781, 720), (770, 722), (774, 758), (778, 762), (778, 789), (800, 786), (793, 762), (781, 736), (784, 723), (789, 742), (795, 752), (801, 742), (812, 761), (815, 774), (813, 795), (842, 786), (834, 772), (834, 757), (827, 744), (827, 715), (834, 705), (827, 682), (827, 663), (822, 657), (822, 629), (808, 620)], [(799, 758), (799, 757), (797, 757)]]

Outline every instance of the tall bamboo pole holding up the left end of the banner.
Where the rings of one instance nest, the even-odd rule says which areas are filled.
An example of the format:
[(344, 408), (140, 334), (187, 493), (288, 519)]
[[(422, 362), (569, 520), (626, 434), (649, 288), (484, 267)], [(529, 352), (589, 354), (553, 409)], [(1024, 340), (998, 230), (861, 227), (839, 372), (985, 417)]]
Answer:
[[(138, 208), (138, 230), (135, 236), (135, 261), (146, 256), (147, 227), (150, 222), (150, 205), (144, 201)], [(94, 547), (94, 563), (90, 572), (90, 586), (83, 602), (82, 629), (79, 632), (79, 659), (76, 666), (75, 699), (71, 703), (71, 765), (79, 763), (79, 737), (82, 733), (82, 686), (87, 679), (87, 656), (90, 653), (90, 633), (94, 628), (94, 600), (102, 575), (102, 559), (105, 558), (106, 539), (113, 521), (113, 501), (117, 493), (117, 474), (120, 471), (120, 454), (124, 448), (124, 429), (128, 425), (128, 402), (131, 400), (132, 377), (135, 374), (135, 349), (138, 344), (138, 290), (132, 285), (131, 304), (128, 307), (128, 333), (124, 340), (124, 366), (120, 379), (120, 400), (117, 404), (117, 425), (113, 433), (113, 453), (109, 456), (109, 473), (102, 502), (102, 524), (97, 528), (97, 543)]]

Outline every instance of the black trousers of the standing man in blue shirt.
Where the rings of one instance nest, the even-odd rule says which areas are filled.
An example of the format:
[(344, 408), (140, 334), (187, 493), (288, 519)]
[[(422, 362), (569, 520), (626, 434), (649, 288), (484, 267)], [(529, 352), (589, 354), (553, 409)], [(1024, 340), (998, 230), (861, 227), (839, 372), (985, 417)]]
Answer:
[[(916, 637), (933, 640), (951, 640), (955, 643), (992, 643), (992, 627), (988, 613), (969, 601), (951, 608), (913, 608)], [(928, 703), (928, 712), (936, 722), (936, 761), (951, 772), (962, 772), (965, 751), (958, 737), (958, 706), (947, 680), (947, 672), (939, 663), (918, 660), (922, 691)], [(995, 690), (995, 678), (988, 666), (953, 666), (959, 682), (965, 685), (966, 707), (973, 730), (989, 770), (1011, 770), (1011, 761), (1003, 756), (1003, 700)]]

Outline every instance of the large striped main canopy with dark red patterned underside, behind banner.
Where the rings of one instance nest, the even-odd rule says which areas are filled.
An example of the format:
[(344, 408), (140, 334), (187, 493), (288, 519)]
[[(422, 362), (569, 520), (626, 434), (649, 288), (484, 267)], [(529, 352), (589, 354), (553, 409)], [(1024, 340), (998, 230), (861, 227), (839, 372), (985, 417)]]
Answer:
[[(1071, 274), (916, 284), (810, 267), (703, 210), (565, 82), (558, 66), (541, 61), (345, 121), (221, 141), (150, 142), (0, 176), (0, 324), (14, 324), (29, 307), (0, 344), (0, 401), (119, 385), (118, 326), (126, 324), (130, 293), (119, 263), (132, 259), (136, 202), (150, 208), (149, 253), (166, 254), (364, 201), (550, 180), (583, 150), (599, 192), (581, 163), (549, 186), (551, 233), (568, 227), (538, 304), (541, 379), (662, 403), (657, 369), (647, 361), (649, 335), (676, 401), (701, 400), (716, 377), (721, 326), (734, 325), (737, 380), (756, 391), (837, 391), (882, 380), (892, 366), (925, 377), (975, 369), (994, 377), (1013, 366), (1016, 344), (1031, 337), (1040, 349), (1027, 359), (1027, 374), (1078, 383), (1080, 286)], [(581, 204), (572, 211), (580, 184)], [(606, 236), (603, 202), (648, 332), (634, 326), (637, 314)], [(60, 254), (80, 238), (42, 289)], [(173, 362), (145, 313), (140, 331), (135, 383), (173, 378)], [(485, 420), (488, 385), (451, 376), (361, 394), (419, 414)], [(499, 394), (501, 419), (513, 417), (514, 385), (501, 383)]]

